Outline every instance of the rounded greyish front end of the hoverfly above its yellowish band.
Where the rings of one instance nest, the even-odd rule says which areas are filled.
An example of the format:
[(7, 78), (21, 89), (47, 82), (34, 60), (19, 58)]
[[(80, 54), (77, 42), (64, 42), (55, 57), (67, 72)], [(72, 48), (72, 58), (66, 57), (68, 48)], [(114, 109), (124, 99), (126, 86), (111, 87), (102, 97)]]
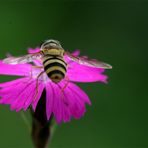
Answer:
[(62, 48), (61, 44), (57, 40), (46, 40), (41, 44), (41, 49), (51, 48), (51, 47), (59, 47)]

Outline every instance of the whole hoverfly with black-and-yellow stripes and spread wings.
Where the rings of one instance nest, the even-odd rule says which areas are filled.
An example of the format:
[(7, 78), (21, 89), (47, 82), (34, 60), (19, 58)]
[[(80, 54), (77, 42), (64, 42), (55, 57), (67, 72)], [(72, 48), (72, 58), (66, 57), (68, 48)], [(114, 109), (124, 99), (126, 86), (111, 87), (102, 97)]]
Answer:
[(21, 57), (8, 57), (3, 60), (6, 64), (24, 64), (33, 62), (34, 60), (42, 61), (42, 68), (44, 71), (39, 74), (46, 72), (47, 76), (52, 82), (58, 83), (65, 78), (67, 72), (67, 63), (64, 60), (64, 56), (67, 56), (70, 60), (75, 61), (79, 64), (96, 67), (111, 69), (112, 66), (94, 59), (88, 59), (87, 57), (76, 57), (69, 52), (65, 51), (60, 42), (57, 40), (47, 40), (41, 44), (40, 51), (34, 54), (28, 54)]

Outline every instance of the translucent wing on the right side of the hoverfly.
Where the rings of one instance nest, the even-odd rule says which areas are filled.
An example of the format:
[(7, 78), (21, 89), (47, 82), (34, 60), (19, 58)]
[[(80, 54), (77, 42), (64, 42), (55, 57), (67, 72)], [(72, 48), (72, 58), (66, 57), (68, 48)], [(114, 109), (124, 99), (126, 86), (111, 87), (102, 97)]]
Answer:
[(88, 57), (86, 57), (86, 56), (76, 57), (76, 56), (70, 54), (69, 52), (65, 52), (65, 55), (70, 60), (75, 61), (75, 62), (82, 64), (82, 65), (96, 67), (96, 68), (104, 68), (104, 69), (111, 69), (112, 68), (112, 66), (107, 63), (97, 61), (96, 59), (88, 59)]

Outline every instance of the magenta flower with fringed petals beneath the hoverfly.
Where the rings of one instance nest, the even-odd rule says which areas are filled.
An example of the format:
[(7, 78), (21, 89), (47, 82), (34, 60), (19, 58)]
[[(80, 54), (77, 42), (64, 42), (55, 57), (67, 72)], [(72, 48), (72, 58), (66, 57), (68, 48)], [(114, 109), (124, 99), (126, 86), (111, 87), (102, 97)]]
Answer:
[[(39, 48), (28, 49), (29, 53), (36, 53)], [(73, 53), (79, 55), (79, 51)], [(1, 75), (21, 76), (17, 80), (0, 83), (0, 103), (9, 104), (11, 110), (26, 111), (30, 106), (36, 110), (43, 90), (46, 91), (46, 115), (49, 120), (53, 114), (56, 122), (70, 121), (71, 117), (79, 119), (86, 111), (85, 103), (91, 105), (87, 94), (73, 82), (106, 82), (107, 76), (102, 74), (104, 69), (80, 65), (70, 61), (68, 63), (66, 79), (58, 84), (53, 83), (44, 73), (38, 80), (38, 93), (36, 93), (37, 77), (43, 69), (33, 66), (41, 66), (41, 61), (35, 60), (32, 64), (5, 64), (0, 61)], [(66, 87), (65, 87), (66, 86)], [(63, 91), (61, 91), (63, 89)], [(34, 97), (36, 95), (36, 97)]]

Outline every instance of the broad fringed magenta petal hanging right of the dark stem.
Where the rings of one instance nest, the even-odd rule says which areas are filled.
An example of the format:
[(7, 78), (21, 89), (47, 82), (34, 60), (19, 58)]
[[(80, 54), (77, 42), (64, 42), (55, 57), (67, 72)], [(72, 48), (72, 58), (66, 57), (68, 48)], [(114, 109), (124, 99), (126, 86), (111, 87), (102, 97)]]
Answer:
[(68, 86), (62, 92), (62, 88), (65, 86), (64, 81), (58, 85), (52, 83), (51, 86), (51, 95), (48, 94), (49, 101), (46, 110), (50, 115), (53, 112), (57, 123), (61, 123), (62, 121), (68, 122), (71, 117), (79, 119), (84, 115), (86, 111), (85, 103), (91, 104), (91, 102), (79, 87), (69, 82)]

